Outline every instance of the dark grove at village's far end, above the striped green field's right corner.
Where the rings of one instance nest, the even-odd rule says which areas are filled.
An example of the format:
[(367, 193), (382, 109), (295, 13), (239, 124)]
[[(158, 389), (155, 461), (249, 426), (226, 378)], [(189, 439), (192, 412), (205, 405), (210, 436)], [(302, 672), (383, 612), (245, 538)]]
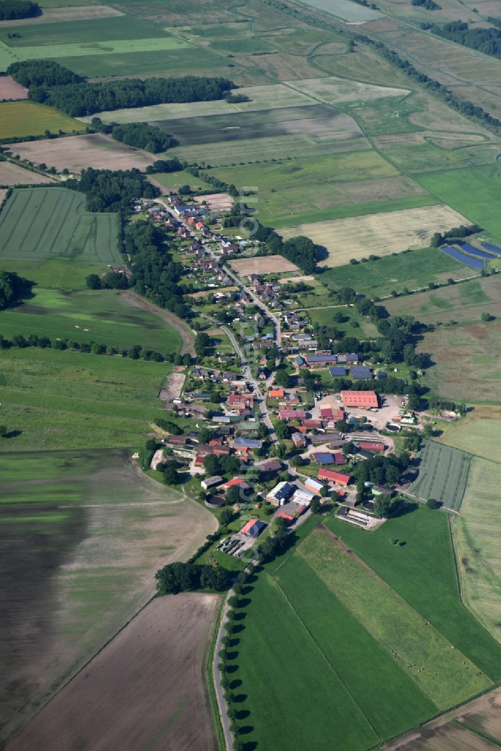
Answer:
[(134, 198), (156, 198), (158, 188), (135, 167), (131, 170), (82, 170), (80, 180), (68, 179), (63, 185), (85, 193), (88, 211), (120, 211)]

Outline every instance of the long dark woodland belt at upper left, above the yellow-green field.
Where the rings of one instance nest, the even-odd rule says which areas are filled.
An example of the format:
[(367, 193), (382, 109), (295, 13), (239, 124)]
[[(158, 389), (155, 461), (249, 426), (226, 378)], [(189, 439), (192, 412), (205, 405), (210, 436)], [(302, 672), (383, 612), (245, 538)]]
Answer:
[(50, 104), (71, 117), (149, 104), (211, 101), (224, 98), (235, 88), (233, 81), (227, 78), (197, 76), (89, 83), (49, 60), (15, 62), (9, 65), (7, 72), (28, 88), (32, 101)]

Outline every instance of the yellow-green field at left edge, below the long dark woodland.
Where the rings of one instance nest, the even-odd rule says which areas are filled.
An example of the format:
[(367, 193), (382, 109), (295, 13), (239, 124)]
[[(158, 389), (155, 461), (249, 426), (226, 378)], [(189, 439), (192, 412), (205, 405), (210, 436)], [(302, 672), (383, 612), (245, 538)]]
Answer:
[(45, 104), (34, 101), (0, 102), (0, 138), (38, 136), (47, 130), (56, 133), (59, 128), (65, 133), (85, 129), (78, 120), (62, 115)]

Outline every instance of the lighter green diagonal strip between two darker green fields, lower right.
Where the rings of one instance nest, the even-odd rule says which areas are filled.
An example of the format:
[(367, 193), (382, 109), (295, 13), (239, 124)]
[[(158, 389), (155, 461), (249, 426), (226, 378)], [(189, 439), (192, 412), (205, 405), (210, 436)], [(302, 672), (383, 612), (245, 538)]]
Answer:
[(315, 530), (298, 548), (315, 573), (439, 709), (466, 701), (491, 681), (388, 584)]

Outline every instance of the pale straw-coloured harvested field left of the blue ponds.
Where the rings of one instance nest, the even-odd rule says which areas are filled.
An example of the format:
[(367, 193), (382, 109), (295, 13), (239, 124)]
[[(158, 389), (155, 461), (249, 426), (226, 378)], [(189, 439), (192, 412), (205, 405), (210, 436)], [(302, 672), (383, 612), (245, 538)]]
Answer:
[(407, 248), (426, 248), (434, 232), (458, 225), (469, 225), (469, 222), (451, 207), (439, 204), (297, 225), (284, 228), (281, 233), (285, 239), (303, 234), (324, 246), (329, 257), (321, 265), (330, 268), (344, 266), (351, 258), (360, 260), (371, 253), (382, 256)]

